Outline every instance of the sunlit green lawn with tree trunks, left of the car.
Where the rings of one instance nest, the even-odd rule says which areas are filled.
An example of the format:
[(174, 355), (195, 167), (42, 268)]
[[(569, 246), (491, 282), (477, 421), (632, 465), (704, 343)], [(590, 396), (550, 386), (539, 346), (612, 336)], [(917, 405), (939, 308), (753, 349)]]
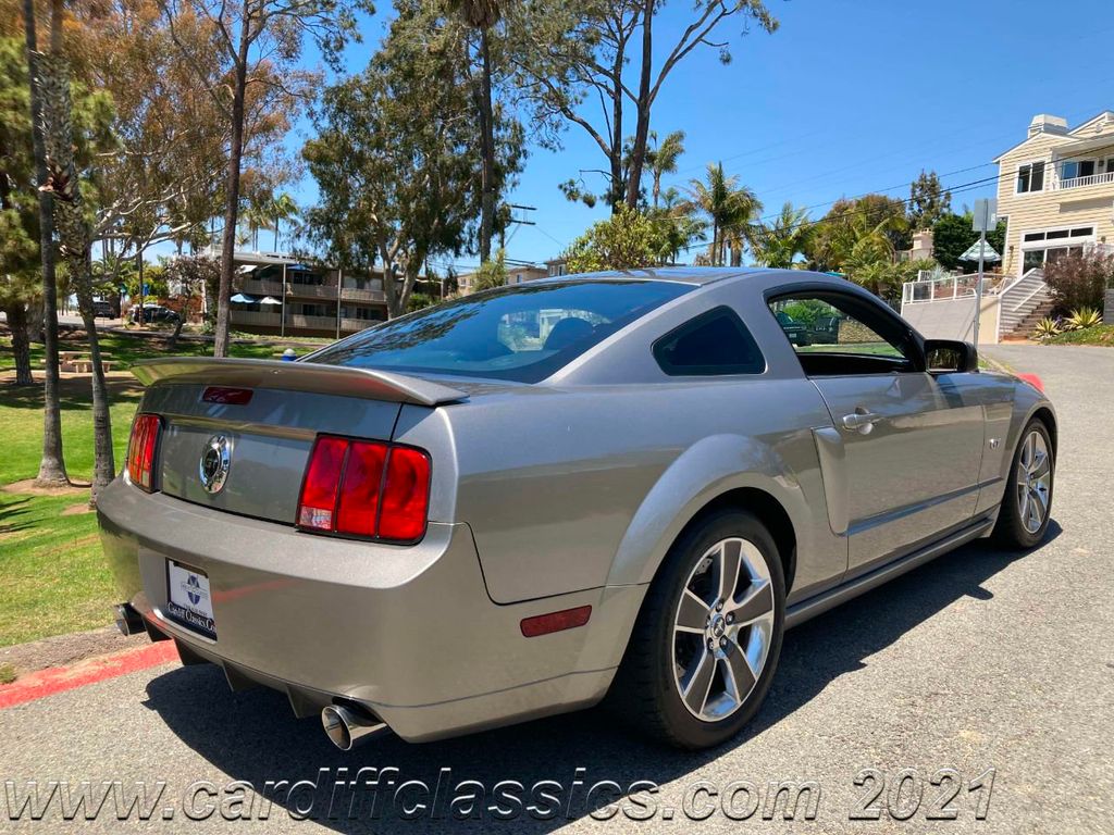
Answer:
[[(167, 352), (160, 340), (102, 336), (104, 350), (128, 367)], [(61, 350), (84, 351), (84, 342), (62, 341)], [(309, 348), (307, 348), (309, 350)], [(234, 344), (234, 356), (271, 358), (273, 345)], [(302, 353), (302, 352), (300, 352)], [(212, 346), (179, 342), (174, 355), (207, 356)], [(36, 370), (42, 367), (42, 346), (32, 347)], [(0, 338), (0, 372), (14, 367), (11, 342)], [(131, 429), (131, 418), (143, 395), (128, 377), (109, 379), (113, 448), (117, 472)], [(89, 377), (62, 380), (62, 446), (70, 480), (88, 482), (92, 474), (92, 419)], [(0, 383), (0, 485), (33, 479), (42, 454), (42, 389)], [(92, 629), (111, 622), (111, 576), (97, 536), (95, 513), (67, 513), (88, 502), (88, 492), (33, 495), (0, 492), (0, 646), (49, 635)]]

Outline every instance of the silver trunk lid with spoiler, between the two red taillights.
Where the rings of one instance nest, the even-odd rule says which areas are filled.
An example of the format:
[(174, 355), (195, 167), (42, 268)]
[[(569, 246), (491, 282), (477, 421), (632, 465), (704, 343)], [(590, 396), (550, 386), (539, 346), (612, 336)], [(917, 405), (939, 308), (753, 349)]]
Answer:
[[(389, 441), (403, 404), (434, 409), (468, 396), (416, 376), (305, 362), (155, 360), (133, 373), (148, 385), (143, 411), (164, 421), (156, 464), (159, 490), (290, 524), (319, 433)], [(227, 397), (206, 399), (213, 389), (251, 394), (234, 399), (246, 402), (219, 402)], [(202, 463), (221, 438), (231, 451), (228, 474), (212, 491)]]

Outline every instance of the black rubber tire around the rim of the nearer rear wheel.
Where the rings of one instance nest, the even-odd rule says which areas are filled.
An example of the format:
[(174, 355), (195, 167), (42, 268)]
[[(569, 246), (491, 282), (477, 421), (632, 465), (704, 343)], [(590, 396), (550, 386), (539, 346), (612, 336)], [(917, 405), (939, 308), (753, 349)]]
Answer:
[[(674, 621), (678, 616), (681, 597), (693, 572), (704, 564), (705, 554), (716, 543), (736, 538), (753, 544), (761, 554), (769, 572), (773, 617), (770, 621), (766, 616), (764, 621), (769, 628), (768, 633), (763, 632), (768, 636), (765, 662), (753, 679), (749, 694), (730, 715), (707, 720), (694, 715), (682, 700), (681, 684), (674, 677), (674, 641), (686, 640), (688, 636), (677, 638)], [(746, 569), (740, 569), (740, 583), (744, 570)], [(740, 584), (737, 588), (743, 587)], [(714, 607), (709, 612), (714, 617)], [(626, 655), (608, 692), (607, 705), (623, 720), (670, 745), (693, 750), (720, 745), (735, 736), (750, 721), (765, 698), (778, 668), (784, 623), (785, 578), (770, 532), (756, 517), (746, 511), (723, 510), (711, 513), (690, 525), (681, 536), (651, 583)], [(744, 627), (743, 630), (751, 628), (753, 627)], [(741, 642), (744, 635), (745, 631), (739, 632)], [(692, 636), (691, 640), (700, 642), (705, 638)], [(735, 647), (732, 644), (729, 649)], [(703, 654), (703, 646), (698, 651)], [(737, 662), (737, 657), (735, 659)], [(730, 666), (726, 659), (719, 664)], [(714, 689), (716, 682), (726, 685), (723, 667), (716, 666), (715, 669), (717, 671), (713, 674), (709, 691)], [(747, 664), (746, 669), (753, 668)]]

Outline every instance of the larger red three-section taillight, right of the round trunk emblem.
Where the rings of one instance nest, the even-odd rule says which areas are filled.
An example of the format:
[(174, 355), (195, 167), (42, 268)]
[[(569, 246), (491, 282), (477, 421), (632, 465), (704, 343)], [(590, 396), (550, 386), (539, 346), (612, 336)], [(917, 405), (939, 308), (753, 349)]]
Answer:
[(412, 446), (319, 435), (297, 503), (303, 530), (416, 542), (426, 534), (429, 455)]

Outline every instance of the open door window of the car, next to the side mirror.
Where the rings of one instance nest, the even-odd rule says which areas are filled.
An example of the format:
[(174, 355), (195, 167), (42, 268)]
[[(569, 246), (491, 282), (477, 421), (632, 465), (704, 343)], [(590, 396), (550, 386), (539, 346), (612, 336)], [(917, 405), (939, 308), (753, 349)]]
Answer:
[(793, 294), (769, 304), (810, 376), (891, 373), (912, 367), (905, 330), (895, 324), (893, 317), (850, 294)]

